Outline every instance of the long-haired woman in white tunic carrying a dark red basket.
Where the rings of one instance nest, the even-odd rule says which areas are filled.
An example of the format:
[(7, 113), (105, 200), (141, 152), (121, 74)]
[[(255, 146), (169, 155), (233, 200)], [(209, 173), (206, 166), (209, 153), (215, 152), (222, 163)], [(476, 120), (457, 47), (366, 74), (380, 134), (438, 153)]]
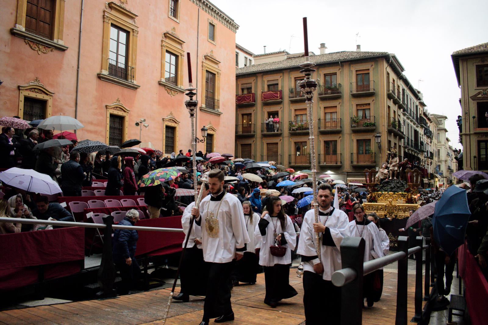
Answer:
[[(269, 212), (268, 212), (269, 211)], [(277, 196), (269, 198), (266, 211), (254, 232), (256, 241), (261, 242), (259, 264), (264, 266), (266, 296), (264, 304), (275, 308), (282, 299), (296, 296), (297, 291), (289, 284), (291, 251), (295, 249), (297, 235), (293, 223)], [(270, 246), (276, 244), (286, 247), (283, 257), (271, 254)]]

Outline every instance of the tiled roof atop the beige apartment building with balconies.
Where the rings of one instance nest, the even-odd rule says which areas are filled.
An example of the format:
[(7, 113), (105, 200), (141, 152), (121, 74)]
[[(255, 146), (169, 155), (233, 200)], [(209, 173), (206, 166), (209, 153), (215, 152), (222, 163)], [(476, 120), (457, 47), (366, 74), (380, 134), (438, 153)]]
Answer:
[[(279, 53), (279, 52), (275, 52), (275, 53)], [(388, 52), (341, 51), (341, 52), (314, 55), (310, 57), (310, 61), (316, 64), (321, 64), (321, 63), (328, 63), (328, 62), (366, 59), (366, 58), (380, 57), (386, 55), (388, 55)], [(255, 57), (257, 56), (259, 56), (259, 54), (256, 55)], [(299, 58), (289, 58), (289, 59), (276, 61), (276, 62), (253, 64), (253, 65), (245, 66), (243, 68), (236, 69), (236, 76), (270, 71), (270, 70), (296, 68), (298, 67), (299, 64), (303, 62), (305, 62), (304, 57), (299, 57)]]

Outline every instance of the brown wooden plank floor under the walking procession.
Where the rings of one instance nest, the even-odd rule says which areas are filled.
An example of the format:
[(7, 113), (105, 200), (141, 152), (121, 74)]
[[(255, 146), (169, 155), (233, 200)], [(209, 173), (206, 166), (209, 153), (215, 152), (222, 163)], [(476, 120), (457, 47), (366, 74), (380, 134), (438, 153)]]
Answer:
[[(414, 314), (414, 275), (409, 274), (408, 319)], [(302, 279), (290, 270), (290, 284), (298, 295), (277, 308), (263, 303), (264, 273), (254, 285), (239, 285), (232, 290), (235, 321), (225, 324), (298, 325), (305, 324)], [(363, 309), (363, 324), (395, 324), (397, 273), (384, 272), (383, 296), (371, 308)], [(0, 312), (0, 324), (163, 324), (162, 318), (170, 289), (158, 289), (106, 300), (80, 301)], [(190, 297), (189, 303), (173, 301), (166, 324), (200, 324), (203, 298)], [(210, 321), (213, 324), (213, 321)]]

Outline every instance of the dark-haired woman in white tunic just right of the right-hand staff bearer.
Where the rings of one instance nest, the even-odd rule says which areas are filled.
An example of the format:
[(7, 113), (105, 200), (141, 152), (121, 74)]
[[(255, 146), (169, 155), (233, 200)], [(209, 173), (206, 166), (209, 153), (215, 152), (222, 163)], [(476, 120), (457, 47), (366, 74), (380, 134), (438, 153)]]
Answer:
[[(383, 257), (383, 248), (378, 234), (378, 227), (365, 218), (365, 209), (362, 204), (356, 203), (352, 207), (356, 220), (347, 225), (349, 236), (361, 237), (365, 240), (364, 262)], [(366, 298), (367, 306), (374, 304), (374, 272), (364, 276), (363, 295)]]

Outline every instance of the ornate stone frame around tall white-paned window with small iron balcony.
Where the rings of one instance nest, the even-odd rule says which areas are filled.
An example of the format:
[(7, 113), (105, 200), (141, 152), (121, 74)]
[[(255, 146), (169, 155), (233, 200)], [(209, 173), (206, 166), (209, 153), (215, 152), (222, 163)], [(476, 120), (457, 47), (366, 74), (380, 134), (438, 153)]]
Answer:
[[(103, 81), (118, 84), (120, 86), (134, 89), (141, 87), (137, 84), (137, 40), (139, 27), (136, 25), (138, 16), (125, 7), (115, 3), (105, 3), (103, 9), (103, 43), (102, 43), (102, 70), (97, 74)], [(129, 47), (127, 65), (134, 68), (134, 81), (126, 81), (108, 74), (108, 52), (110, 48), (110, 27), (112, 23), (129, 33)]]

